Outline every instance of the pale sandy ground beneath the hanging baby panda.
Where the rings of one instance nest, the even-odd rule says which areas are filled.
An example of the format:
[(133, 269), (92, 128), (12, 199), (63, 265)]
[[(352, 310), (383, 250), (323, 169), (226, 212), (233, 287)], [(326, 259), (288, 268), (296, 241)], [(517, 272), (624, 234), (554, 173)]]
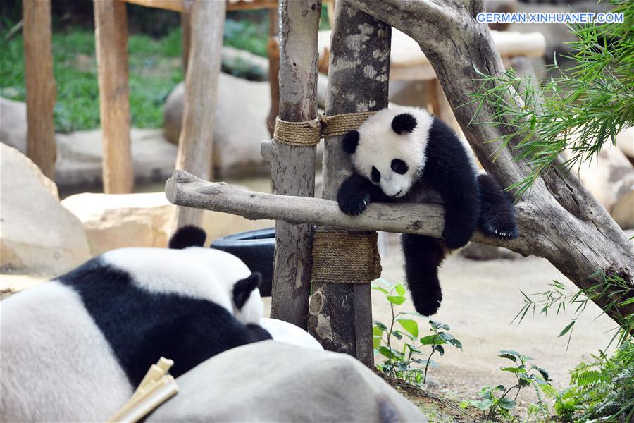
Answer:
[[(382, 277), (390, 282), (404, 281), (402, 255), (391, 235), (390, 241), (382, 260)], [(511, 324), (523, 305), (520, 290), (539, 293), (549, 289), (548, 283), (553, 280), (564, 283), (571, 292), (577, 291), (547, 260), (538, 257), (490, 261), (449, 257), (440, 271), (442, 306), (433, 318), (451, 326), (450, 333), (462, 342), (463, 351), (447, 347), (443, 357), (435, 355), (433, 360), (438, 367), (429, 370), (430, 388), (463, 399), (475, 398), (484, 385), (511, 386), (514, 377), (499, 371), (502, 364), (509, 364), (497, 357), (502, 349), (533, 357), (534, 364), (549, 371), (556, 388), (567, 386), (568, 372), (583, 357), (606, 348), (616, 324), (590, 303), (575, 324), (568, 348), (568, 335), (557, 336), (574, 317), (574, 309), (559, 316), (554, 310), (545, 316), (537, 309), (535, 317), (529, 312), (519, 326)], [(390, 305), (378, 293), (373, 294), (373, 318), (387, 323), (391, 318)], [(409, 299), (398, 307), (402, 311), (414, 310)], [(423, 331), (421, 336), (429, 333)], [(535, 400), (533, 391), (525, 391), (518, 398), (524, 405)]]

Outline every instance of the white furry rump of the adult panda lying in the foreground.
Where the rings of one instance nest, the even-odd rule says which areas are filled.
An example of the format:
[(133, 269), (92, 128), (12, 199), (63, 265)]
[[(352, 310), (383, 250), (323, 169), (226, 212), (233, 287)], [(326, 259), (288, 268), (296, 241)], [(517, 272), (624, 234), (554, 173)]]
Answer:
[(3, 300), (0, 333), (3, 422), (103, 421), (132, 394), (80, 295), (59, 281)]

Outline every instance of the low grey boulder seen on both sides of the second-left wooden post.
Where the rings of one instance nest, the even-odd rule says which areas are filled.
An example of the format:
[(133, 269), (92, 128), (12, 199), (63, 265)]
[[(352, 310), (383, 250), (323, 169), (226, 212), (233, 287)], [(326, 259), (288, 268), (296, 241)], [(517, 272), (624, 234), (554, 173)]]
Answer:
[[(56, 183), (77, 192), (99, 186), (103, 180), (101, 130), (57, 134)], [(130, 130), (132, 167), (137, 183), (159, 183), (169, 178), (176, 163), (177, 148), (160, 129)]]

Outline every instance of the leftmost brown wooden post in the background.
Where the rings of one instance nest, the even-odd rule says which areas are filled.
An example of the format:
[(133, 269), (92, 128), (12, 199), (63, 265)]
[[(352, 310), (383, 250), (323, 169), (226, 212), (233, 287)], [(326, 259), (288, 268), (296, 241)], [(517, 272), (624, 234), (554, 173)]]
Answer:
[(27, 91), (27, 156), (55, 179), (53, 108), (57, 92), (51, 51), (51, 1), (24, 0), (24, 66)]

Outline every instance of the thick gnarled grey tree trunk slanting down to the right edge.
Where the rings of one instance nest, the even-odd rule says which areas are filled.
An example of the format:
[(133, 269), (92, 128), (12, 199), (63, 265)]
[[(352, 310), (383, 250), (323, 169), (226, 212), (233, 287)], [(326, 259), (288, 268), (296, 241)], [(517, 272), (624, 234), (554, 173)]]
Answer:
[[(498, 127), (468, 126), (476, 105), (467, 104), (470, 99), (464, 93), (479, 89), (480, 76), (475, 68), (489, 75), (504, 71), (487, 26), (475, 20), (483, 11), (484, 1), (348, 1), (418, 42), (480, 163), (506, 186), (523, 180), (530, 168), (526, 162), (513, 160), (513, 147), (492, 160), (499, 145), (490, 141), (501, 135)], [(481, 111), (478, 121), (492, 121), (491, 111)], [(597, 271), (618, 274), (630, 288), (634, 287), (632, 247), (621, 228), (573, 173), (557, 166), (552, 168), (522, 200), (528, 214), (518, 241), (523, 250), (548, 259), (579, 288), (588, 289), (599, 283), (591, 277)], [(593, 300), (603, 308), (611, 302), (609, 295)], [(613, 307), (607, 314), (619, 321), (632, 312), (634, 305), (628, 305)]]

